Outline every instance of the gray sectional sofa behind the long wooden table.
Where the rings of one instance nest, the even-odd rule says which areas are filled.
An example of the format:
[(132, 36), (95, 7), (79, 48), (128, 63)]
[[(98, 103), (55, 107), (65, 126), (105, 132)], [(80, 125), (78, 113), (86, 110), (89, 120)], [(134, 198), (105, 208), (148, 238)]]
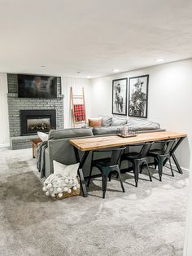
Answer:
[[(109, 121), (109, 118), (111, 118), (113, 122)], [(113, 118), (115, 120), (113, 120)], [(114, 135), (119, 133), (120, 126), (122, 124), (128, 126), (128, 129), (137, 129), (138, 132), (140, 133), (163, 130), (160, 129), (159, 124), (154, 121), (144, 121), (139, 119), (126, 120), (118, 117), (108, 117), (108, 119), (107, 117), (103, 117), (102, 127), (50, 130), (46, 149), (43, 157), (41, 157), (41, 159), (45, 161), (43, 176), (48, 177), (50, 174), (53, 173), (53, 160), (59, 161), (66, 165), (76, 163), (75, 153), (72, 144), (69, 143), (69, 139), (102, 135)], [(103, 153), (98, 153), (98, 156), (96, 155), (96, 157), (107, 157), (106, 154), (107, 153), (105, 153), (105, 155)], [(80, 152), (80, 156), (82, 156), (82, 152)], [(83, 166), (85, 177), (87, 177), (89, 174), (90, 160), (91, 152), (89, 153), (89, 156), (85, 161), (85, 165)], [(98, 173), (98, 170), (93, 170), (93, 174)]]

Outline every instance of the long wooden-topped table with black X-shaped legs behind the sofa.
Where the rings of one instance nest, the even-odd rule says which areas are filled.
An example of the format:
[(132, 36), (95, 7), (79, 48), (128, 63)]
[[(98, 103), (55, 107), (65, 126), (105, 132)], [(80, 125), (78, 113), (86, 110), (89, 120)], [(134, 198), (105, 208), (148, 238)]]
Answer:
[[(185, 139), (187, 135), (185, 133), (179, 133), (174, 131), (159, 131), (159, 132), (146, 132), (140, 133), (135, 137), (122, 138), (119, 135), (106, 135), (106, 136), (93, 136), (80, 139), (70, 139), (69, 142), (72, 143), (75, 154), (76, 161), (80, 162), (79, 174), (81, 179), (81, 188), (83, 196), (87, 195), (87, 190), (85, 186), (85, 179), (82, 167), (85, 164), (86, 158), (89, 155), (90, 151), (99, 150), (103, 148), (118, 148), (122, 146), (129, 146), (133, 144), (146, 143), (146, 142), (155, 142), (166, 139), (177, 139), (176, 143), (172, 147), (171, 156), (177, 170), (182, 174), (181, 167), (175, 156), (175, 151), (178, 146), (181, 144), (182, 140)], [(84, 152), (83, 157), (80, 158), (79, 151)], [(164, 162), (164, 164), (166, 161)]]

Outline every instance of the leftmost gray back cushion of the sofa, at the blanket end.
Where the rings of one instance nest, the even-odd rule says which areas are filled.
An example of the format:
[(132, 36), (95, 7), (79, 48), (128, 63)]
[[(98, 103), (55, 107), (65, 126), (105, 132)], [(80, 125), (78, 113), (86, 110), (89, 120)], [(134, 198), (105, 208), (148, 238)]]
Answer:
[(49, 139), (68, 139), (76, 137), (93, 136), (92, 128), (71, 128), (63, 130), (50, 130)]

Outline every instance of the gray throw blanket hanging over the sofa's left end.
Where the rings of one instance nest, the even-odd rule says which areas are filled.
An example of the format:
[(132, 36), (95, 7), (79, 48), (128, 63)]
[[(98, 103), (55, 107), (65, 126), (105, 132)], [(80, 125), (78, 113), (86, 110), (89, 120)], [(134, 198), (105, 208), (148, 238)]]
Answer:
[(47, 148), (47, 141), (42, 142), (37, 148), (37, 170), (41, 174), (41, 178), (45, 177), (45, 150)]

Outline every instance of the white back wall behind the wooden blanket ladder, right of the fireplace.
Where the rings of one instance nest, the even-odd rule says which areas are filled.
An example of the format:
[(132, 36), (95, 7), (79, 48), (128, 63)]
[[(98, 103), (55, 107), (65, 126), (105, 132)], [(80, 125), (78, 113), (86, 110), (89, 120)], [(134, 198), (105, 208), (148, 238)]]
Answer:
[(72, 105), (71, 105), (71, 95), (70, 87), (74, 95), (82, 95), (82, 88), (85, 91), (85, 107), (86, 107), (86, 116), (91, 116), (91, 87), (90, 80), (83, 78), (68, 78), (61, 77), (62, 84), (62, 94), (64, 95), (64, 128), (72, 127)]

